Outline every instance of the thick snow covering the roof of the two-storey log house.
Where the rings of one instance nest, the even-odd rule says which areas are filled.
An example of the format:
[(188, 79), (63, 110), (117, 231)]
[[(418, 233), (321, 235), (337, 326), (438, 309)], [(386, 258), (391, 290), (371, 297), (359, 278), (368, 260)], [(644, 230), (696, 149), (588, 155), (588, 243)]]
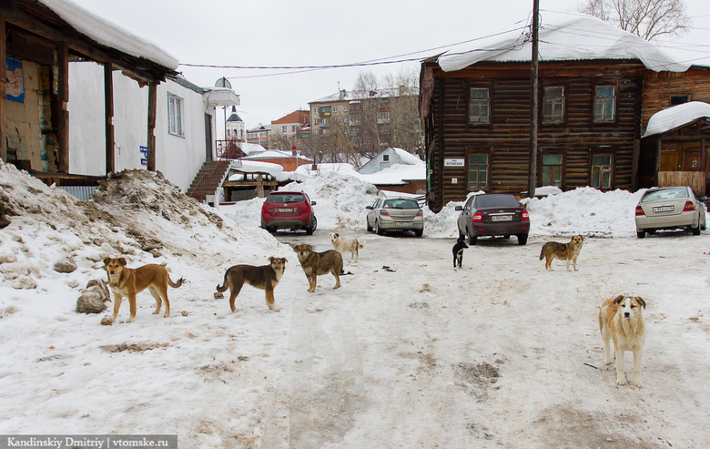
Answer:
[[(539, 32), (541, 61), (588, 59), (639, 59), (650, 70), (685, 72), (690, 64), (675, 60), (639, 36), (591, 15), (564, 15), (545, 12)], [(480, 61), (530, 61), (532, 43), (524, 31), (475, 41), (467, 48), (452, 48), (439, 56), (444, 72), (461, 70)]]

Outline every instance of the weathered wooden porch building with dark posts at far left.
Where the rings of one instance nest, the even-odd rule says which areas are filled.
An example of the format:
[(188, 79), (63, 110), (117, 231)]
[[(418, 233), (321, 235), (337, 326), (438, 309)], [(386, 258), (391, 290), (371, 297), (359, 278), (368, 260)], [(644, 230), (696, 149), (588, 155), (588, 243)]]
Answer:
[[(165, 81), (167, 75), (177, 75), (172, 68), (98, 44), (33, 0), (4, 0), (0, 5), (0, 31), (5, 36), (0, 38), (0, 73), (8, 69), (17, 83), (9, 86), (5, 76), (0, 77), (0, 158), (31, 170), (47, 183), (96, 182), (70, 175), (69, 167), (68, 65), (70, 60), (91, 60), (106, 70), (106, 147), (86, 150), (106, 151), (106, 173), (114, 171), (112, 73), (120, 70), (141, 86), (149, 86), (153, 93), (148, 107), (148, 117), (153, 121), (147, 125), (147, 158), (148, 168), (155, 169), (153, 97), (157, 83)], [(12, 67), (6, 67), (8, 64)], [(18, 96), (12, 97), (12, 90)]]

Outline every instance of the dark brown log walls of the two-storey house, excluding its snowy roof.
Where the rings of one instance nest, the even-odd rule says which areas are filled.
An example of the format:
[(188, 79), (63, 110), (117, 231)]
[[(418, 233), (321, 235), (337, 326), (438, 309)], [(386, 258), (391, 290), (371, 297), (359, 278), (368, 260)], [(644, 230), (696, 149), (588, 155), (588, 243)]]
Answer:
[[(554, 179), (561, 189), (635, 188), (644, 72), (637, 60), (540, 64), (537, 186)], [(595, 92), (602, 86), (614, 87), (613, 116), (596, 120)], [(543, 114), (546, 87), (563, 92), (557, 116)], [(472, 121), (471, 89), (489, 93), (487, 121)], [(448, 73), (433, 61), (422, 64), (432, 210), (471, 191), (526, 194), (531, 103), (530, 63), (479, 62)]]

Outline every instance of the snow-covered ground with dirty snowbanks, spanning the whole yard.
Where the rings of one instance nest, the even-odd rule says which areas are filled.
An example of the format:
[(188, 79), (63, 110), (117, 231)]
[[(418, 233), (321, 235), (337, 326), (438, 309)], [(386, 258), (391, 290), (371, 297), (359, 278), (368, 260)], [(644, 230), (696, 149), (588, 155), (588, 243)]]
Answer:
[[(424, 238), (364, 232), (371, 185), (324, 174), (313, 236), (258, 228), (259, 200), (214, 210), (158, 177), (109, 180), (92, 203), (0, 164), (15, 214), (0, 230), (0, 434), (177, 434), (180, 447), (674, 447), (710, 441), (710, 234), (634, 237), (639, 193), (577, 189), (528, 204), (526, 246), (479, 240), (451, 268), (454, 204)], [(355, 236), (342, 288), (308, 283), (289, 244)], [(588, 237), (579, 271), (538, 260), (545, 241)], [(159, 252), (148, 253), (158, 245)], [(113, 326), (74, 311), (101, 260), (165, 263), (172, 315), (138, 295)], [(215, 300), (224, 270), (289, 259), (276, 289)], [(57, 260), (77, 270), (53, 270)], [(382, 270), (383, 266), (391, 270)], [(604, 369), (599, 305), (648, 303), (644, 388)], [(109, 304), (109, 308), (112, 304)], [(626, 355), (627, 372), (631, 354)]]

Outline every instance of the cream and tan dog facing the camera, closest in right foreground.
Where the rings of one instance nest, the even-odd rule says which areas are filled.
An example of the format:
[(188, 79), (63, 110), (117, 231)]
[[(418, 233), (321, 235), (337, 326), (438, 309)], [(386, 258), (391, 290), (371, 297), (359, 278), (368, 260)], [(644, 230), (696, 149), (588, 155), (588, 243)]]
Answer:
[(611, 364), (609, 339), (614, 340), (616, 356), (616, 383), (626, 384), (624, 372), (624, 352), (634, 352), (634, 385), (644, 387), (641, 382), (641, 353), (646, 341), (644, 313), (646, 302), (638, 296), (619, 295), (604, 301), (599, 310), (599, 330), (604, 340), (604, 364)]

